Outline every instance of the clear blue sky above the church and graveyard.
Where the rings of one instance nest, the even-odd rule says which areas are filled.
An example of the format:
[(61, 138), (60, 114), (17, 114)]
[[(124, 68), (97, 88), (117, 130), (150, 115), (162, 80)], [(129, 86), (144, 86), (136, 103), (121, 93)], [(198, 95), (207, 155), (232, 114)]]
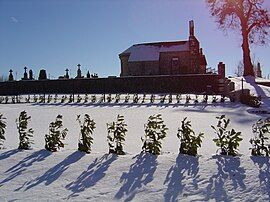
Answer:
[[(27, 66), (35, 76), (44, 68), (58, 78), (68, 68), (74, 77), (80, 63), (83, 74), (119, 76), (119, 53), (136, 43), (187, 40), (191, 19), (208, 66), (223, 61), (232, 75), (241, 37), (220, 31), (204, 0), (0, 0), (0, 75), (13, 69), (21, 78)], [(252, 47), (265, 76), (269, 50)]]

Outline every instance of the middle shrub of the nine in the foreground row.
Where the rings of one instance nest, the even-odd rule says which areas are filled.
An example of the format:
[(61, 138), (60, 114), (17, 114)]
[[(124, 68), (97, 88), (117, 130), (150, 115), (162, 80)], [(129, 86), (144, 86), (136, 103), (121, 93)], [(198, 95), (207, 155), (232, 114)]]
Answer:
[(117, 121), (107, 123), (108, 136), (107, 141), (109, 144), (109, 153), (124, 155), (123, 143), (127, 133), (127, 124), (124, 121), (124, 116), (117, 115)]

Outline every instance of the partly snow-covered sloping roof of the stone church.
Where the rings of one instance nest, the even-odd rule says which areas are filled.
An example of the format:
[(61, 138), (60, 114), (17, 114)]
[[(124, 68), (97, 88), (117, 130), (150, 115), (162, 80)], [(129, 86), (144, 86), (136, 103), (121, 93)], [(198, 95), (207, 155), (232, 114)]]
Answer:
[(129, 62), (158, 61), (162, 52), (189, 51), (188, 41), (157, 42), (136, 44), (122, 54), (130, 54)]

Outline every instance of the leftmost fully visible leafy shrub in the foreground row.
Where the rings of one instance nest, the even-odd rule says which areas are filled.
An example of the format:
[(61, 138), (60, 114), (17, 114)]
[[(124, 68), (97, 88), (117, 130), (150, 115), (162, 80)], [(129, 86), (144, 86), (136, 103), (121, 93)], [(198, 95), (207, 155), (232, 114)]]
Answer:
[(31, 144), (33, 144), (34, 130), (32, 128), (27, 129), (30, 119), (31, 116), (27, 116), (26, 111), (22, 111), (19, 118), (16, 119), (20, 140), (18, 149), (30, 149)]

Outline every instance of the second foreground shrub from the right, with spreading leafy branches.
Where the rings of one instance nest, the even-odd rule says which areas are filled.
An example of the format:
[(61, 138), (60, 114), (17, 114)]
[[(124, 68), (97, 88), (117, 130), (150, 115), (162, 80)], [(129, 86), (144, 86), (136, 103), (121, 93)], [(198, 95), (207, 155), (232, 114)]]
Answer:
[(214, 138), (213, 141), (221, 150), (221, 155), (236, 156), (239, 143), (243, 140), (241, 138), (241, 132), (236, 132), (234, 129), (227, 130), (230, 119), (226, 119), (225, 115), (216, 118), (218, 119), (217, 126), (211, 127), (215, 130), (218, 137)]

